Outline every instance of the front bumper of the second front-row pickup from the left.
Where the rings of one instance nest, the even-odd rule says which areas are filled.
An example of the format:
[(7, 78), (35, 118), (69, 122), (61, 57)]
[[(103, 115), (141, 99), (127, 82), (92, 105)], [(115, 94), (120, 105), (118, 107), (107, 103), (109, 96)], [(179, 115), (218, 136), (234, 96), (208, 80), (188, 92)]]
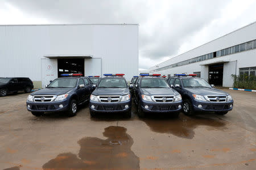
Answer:
[[(92, 108), (94, 105), (94, 108)], [(128, 105), (128, 108), (125, 108), (125, 105)], [(122, 101), (118, 103), (101, 103), (97, 101), (90, 100), (90, 111), (92, 112), (105, 112), (105, 113), (113, 113), (113, 112), (127, 112), (131, 109), (131, 99), (128, 101)]]

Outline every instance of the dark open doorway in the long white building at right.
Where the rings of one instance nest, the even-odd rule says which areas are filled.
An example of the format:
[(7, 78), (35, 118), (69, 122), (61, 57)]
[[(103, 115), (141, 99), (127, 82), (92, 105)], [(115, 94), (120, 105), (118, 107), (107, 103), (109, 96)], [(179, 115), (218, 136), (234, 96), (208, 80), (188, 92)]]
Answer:
[(223, 63), (209, 65), (209, 83), (214, 86), (222, 86), (223, 83)]

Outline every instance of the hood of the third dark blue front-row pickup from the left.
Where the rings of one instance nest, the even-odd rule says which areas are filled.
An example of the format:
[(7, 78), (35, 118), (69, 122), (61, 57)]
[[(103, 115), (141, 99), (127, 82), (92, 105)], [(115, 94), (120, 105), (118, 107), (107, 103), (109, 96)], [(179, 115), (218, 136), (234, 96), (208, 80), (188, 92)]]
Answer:
[(152, 95), (178, 95), (172, 88), (141, 88), (142, 94), (152, 96)]

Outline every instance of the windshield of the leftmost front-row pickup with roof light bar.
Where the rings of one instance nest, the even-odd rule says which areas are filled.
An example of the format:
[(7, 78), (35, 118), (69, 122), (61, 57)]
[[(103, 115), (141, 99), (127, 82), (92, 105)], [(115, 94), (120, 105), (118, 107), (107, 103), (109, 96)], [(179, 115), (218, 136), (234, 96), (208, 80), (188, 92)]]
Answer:
[(77, 79), (55, 79), (47, 88), (63, 88), (63, 87), (76, 87)]

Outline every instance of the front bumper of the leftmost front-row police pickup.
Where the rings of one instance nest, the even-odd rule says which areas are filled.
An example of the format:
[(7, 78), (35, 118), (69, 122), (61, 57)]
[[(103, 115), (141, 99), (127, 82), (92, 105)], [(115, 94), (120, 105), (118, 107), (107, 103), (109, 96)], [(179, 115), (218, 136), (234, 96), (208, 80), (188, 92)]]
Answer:
[[(62, 104), (63, 108), (59, 105)], [(61, 112), (68, 110), (68, 100), (51, 101), (51, 102), (34, 102), (27, 101), (27, 110), (30, 112)], [(30, 108), (28, 108), (30, 105)]]

